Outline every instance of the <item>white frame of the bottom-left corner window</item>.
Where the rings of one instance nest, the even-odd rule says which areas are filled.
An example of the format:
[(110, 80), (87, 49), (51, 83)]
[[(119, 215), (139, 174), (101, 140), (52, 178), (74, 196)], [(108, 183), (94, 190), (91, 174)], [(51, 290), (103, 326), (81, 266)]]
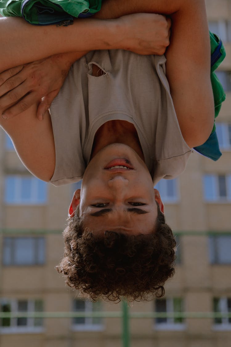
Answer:
[[(27, 313), (29, 312), (35, 312), (35, 302), (41, 301), (42, 305), (44, 304), (42, 299), (7, 299), (7, 298), (1, 298), (0, 299), (0, 307), (2, 307), (3, 304), (10, 304), (11, 312), (20, 312), (18, 311), (18, 303), (20, 301), (27, 301)], [(21, 311), (22, 312), (22, 311)], [(39, 312), (39, 311), (38, 311)], [(43, 312), (40, 311), (40, 312)], [(30, 317), (27, 319), (27, 324), (20, 326), (17, 325), (17, 317), (10, 318), (10, 326), (9, 327), (3, 327), (0, 324), (0, 333), (2, 334), (18, 334), (18, 333), (41, 333), (44, 332), (44, 319), (41, 318), (42, 324), (41, 325), (34, 325), (36, 318)], [(0, 319), (1, 322), (1, 319)]]

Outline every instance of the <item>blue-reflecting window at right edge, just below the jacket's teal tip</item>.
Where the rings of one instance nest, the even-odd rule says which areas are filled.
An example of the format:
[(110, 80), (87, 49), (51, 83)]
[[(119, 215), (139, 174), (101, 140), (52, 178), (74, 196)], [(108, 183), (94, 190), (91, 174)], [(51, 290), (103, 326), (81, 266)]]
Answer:
[(204, 199), (209, 202), (231, 201), (231, 175), (204, 175)]

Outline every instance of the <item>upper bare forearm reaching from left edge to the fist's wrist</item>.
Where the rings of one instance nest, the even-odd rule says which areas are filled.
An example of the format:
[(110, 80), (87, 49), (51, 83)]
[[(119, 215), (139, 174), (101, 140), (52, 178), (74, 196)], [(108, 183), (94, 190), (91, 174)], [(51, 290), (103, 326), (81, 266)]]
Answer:
[(1, 71), (74, 50), (117, 49), (118, 37), (124, 35), (116, 21), (97, 19), (78, 19), (68, 27), (41, 27), (22, 18), (7, 17), (0, 18), (0, 31)]

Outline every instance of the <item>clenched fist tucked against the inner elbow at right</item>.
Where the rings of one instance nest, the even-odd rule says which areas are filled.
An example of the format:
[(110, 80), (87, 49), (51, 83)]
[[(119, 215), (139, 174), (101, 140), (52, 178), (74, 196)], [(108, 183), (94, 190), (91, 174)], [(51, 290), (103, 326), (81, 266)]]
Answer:
[(124, 32), (119, 43), (123, 49), (143, 55), (165, 53), (170, 39), (170, 18), (142, 13), (120, 17), (119, 21)]

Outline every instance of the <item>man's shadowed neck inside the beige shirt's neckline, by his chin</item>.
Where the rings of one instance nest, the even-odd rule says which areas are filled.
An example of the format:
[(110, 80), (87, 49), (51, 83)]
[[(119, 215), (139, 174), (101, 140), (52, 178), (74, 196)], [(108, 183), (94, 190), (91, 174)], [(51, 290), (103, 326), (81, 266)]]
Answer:
[(123, 143), (130, 146), (144, 161), (140, 140), (133, 124), (125, 120), (109, 120), (96, 132), (92, 146), (91, 158), (93, 158), (103, 147)]

